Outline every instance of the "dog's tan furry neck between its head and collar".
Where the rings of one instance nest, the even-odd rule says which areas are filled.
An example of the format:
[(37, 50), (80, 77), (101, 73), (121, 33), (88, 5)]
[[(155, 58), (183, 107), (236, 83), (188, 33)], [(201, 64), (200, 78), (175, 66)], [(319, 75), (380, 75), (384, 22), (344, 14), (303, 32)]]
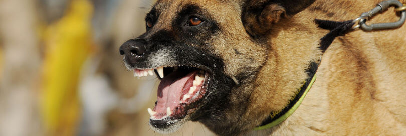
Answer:
[(316, 28), (312, 20), (302, 20), (295, 16), (276, 24), (270, 35), (268, 60), (258, 73), (258, 86), (250, 98), (253, 105), (248, 106), (245, 114), (256, 117), (253, 119), (256, 122), (246, 120), (251, 121), (251, 125), (261, 125), (269, 117), (269, 113), (281, 112), (289, 105), (292, 97), (297, 96), (298, 88), (309, 78), (306, 70), (312, 62), (319, 62), (322, 54), (319, 42), (326, 31)]

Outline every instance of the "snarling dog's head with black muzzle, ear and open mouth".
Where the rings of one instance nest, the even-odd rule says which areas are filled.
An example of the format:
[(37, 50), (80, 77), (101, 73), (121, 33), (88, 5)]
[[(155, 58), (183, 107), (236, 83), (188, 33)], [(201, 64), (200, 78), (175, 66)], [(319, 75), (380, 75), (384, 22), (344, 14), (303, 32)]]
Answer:
[(244, 126), (242, 116), (261, 85), (259, 71), (275, 56), (273, 24), (312, 3), (298, 1), (158, 0), (145, 17), (147, 31), (120, 47), (134, 75), (161, 79), (150, 125), (172, 132), (192, 120), (230, 134), (260, 123)]

